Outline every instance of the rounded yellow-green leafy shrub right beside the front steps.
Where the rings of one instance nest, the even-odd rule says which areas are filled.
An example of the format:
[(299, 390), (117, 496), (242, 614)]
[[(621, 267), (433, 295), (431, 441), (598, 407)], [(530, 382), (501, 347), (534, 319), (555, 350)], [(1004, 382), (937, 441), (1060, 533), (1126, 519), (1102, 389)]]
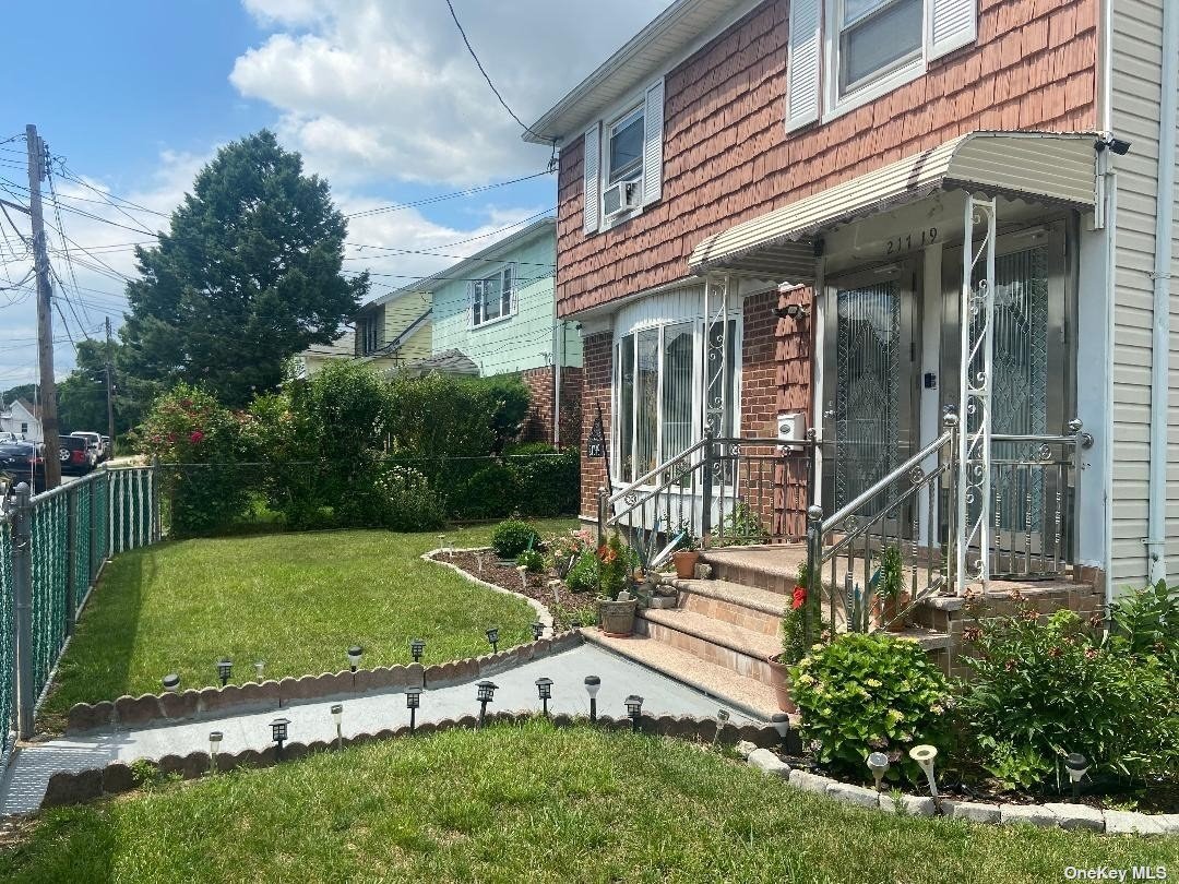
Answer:
[(944, 745), (953, 706), (946, 677), (920, 645), (878, 633), (816, 645), (791, 669), (791, 693), (817, 760), (856, 779), (875, 750), (888, 754), (890, 780), (920, 781), (909, 748)]

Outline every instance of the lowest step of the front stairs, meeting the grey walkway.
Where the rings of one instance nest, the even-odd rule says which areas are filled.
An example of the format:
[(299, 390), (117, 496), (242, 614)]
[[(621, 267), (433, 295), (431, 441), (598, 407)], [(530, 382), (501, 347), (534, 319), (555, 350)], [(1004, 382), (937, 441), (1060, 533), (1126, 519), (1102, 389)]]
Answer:
[(615, 639), (600, 629), (581, 629), (581, 635), (586, 641), (648, 666), (758, 718), (769, 719), (778, 711), (778, 702), (770, 686), (656, 639), (645, 635)]

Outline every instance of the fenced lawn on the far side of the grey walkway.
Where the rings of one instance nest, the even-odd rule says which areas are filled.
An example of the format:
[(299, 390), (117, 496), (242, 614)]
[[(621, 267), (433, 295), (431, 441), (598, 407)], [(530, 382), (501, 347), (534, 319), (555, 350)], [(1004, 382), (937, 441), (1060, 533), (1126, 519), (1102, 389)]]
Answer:
[[(545, 530), (571, 521), (542, 523)], [(486, 543), (492, 526), (447, 533), (455, 546)], [(535, 619), (523, 601), (476, 586), (419, 556), (437, 533), (325, 532), (160, 543), (111, 561), (61, 660), (42, 711), (60, 725), (75, 702), (217, 682), (215, 661), (233, 660), (233, 679), (347, 668), (345, 648), (364, 648), (363, 666), (410, 662), (409, 639), (426, 639), (423, 662), (531, 640)]]

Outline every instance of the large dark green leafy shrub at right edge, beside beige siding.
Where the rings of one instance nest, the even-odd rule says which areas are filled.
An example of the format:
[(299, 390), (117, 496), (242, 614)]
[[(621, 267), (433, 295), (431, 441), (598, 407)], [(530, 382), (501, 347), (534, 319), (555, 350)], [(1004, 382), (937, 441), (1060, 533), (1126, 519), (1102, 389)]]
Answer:
[(1094, 641), (1071, 611), (1041, 619), (1030, 605), (970, 638), (962, 713), (980, 763), (1009, 786), (1046, 781), (1068, 752), (1095, 773), (1174, 776), (1179, 704), (1157, 658)]

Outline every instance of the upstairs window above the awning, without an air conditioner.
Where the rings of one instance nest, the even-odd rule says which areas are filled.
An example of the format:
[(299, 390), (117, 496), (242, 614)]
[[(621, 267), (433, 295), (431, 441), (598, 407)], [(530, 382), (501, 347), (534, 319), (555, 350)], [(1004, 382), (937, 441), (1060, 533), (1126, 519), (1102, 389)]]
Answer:
[(839, 0), (839, 97), (921, 58), (922, 0)]

